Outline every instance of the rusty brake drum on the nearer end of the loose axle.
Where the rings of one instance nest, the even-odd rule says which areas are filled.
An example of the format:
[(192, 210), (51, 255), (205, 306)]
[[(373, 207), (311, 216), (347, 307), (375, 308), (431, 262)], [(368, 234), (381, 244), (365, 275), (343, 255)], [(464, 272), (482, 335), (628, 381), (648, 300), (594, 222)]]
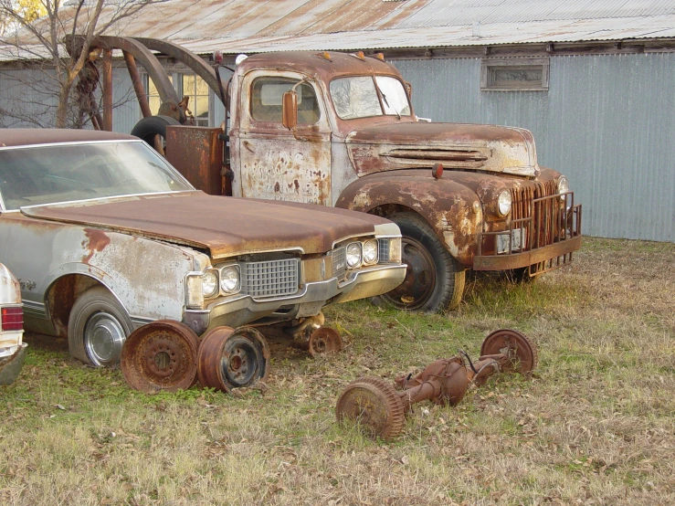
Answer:
[(335, 406), (338, 422), (360, 424), (371, 436), (392, 439), (401, 432), (406, 415), (394, 386), (380, 378), (359, 378), (347, 386)]

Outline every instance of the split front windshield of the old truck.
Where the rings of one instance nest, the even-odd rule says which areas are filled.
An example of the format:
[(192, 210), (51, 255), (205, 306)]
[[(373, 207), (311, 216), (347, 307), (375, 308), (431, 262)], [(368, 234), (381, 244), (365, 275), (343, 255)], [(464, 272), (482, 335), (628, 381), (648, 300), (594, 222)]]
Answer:
[[(377, 90), (382, 103), (377, 98)], [(359, 76), (332, 79), (331, 99), (342, 120), (369, 116), (409, 116), (410, 104), (401, 81), (389, 76)]]

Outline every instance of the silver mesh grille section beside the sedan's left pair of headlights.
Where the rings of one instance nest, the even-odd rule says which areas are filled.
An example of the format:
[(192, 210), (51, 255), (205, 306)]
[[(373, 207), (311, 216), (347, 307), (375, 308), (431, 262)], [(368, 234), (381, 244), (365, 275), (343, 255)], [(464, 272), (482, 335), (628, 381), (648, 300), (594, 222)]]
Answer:
[(298, 291), (300, 260), (285, 258), (241, 263), (241, 291), (251, 297), (279, 297)]

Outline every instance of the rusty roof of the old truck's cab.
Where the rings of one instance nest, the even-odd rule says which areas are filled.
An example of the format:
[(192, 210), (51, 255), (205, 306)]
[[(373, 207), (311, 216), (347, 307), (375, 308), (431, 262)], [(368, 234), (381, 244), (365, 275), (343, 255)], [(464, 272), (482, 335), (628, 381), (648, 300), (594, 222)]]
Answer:
[[(328, 55), (330, 58), (325, 58)], [(254, 69), (296, 70), (305, 74), (320, 74), (330, 78), (353, 74), (389, 74), (400, 77), (400, 73), (385, 61), (356, 53), (338, 53), (334, 51), (281, 51), (249, 56), (239, 64), (238, 72), (246, 74)]]

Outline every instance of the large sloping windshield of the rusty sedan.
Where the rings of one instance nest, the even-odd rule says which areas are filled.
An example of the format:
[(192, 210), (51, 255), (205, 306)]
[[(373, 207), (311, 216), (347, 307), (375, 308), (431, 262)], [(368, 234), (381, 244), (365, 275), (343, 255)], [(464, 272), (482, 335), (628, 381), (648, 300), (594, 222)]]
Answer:
[(144, 142), (83, 142), (0, 150), (5, 210), (120, 195), (194, 190)]

